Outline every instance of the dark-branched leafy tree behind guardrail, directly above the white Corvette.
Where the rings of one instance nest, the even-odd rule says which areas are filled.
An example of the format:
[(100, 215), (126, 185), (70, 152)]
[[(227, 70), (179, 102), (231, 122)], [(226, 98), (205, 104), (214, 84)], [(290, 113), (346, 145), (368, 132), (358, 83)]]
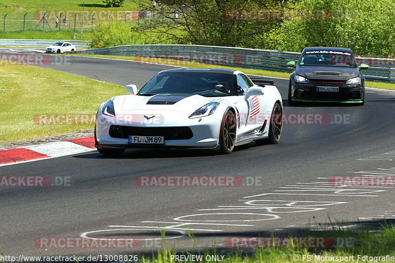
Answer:
[[(179, 43), (269, 48), (280, 20), (256, 16), (257, 10), (282, 8), (279, 0), (173, 0), (174, 6), (162, 8), (154, 31)], [(162, 23), (162, 22), (161, 22)], [(179, 34), (176, 32), (179, 31)]]

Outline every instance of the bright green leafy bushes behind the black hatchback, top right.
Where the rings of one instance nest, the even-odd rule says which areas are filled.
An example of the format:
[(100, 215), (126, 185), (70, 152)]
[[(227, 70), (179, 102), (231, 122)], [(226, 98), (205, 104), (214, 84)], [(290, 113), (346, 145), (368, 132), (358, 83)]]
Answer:
[(295, 10), (324, 10), (324, 19), (284, 21), (277, 48), (306, 46), (351, 48), (360, 55), (395, 53), (394, 0), (301, 0)]

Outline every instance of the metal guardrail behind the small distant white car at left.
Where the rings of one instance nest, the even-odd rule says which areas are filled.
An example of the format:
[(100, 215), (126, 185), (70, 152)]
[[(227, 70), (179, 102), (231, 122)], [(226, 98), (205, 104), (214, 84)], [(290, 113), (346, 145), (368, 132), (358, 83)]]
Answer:
[(54, 39), (0, 39), (0, 46), (11, 47), (47, 47), (56, 42), (69, 42), (76, 45), (77, 48), (88, 48), (90, 41), (80, 40), (54, 40)]

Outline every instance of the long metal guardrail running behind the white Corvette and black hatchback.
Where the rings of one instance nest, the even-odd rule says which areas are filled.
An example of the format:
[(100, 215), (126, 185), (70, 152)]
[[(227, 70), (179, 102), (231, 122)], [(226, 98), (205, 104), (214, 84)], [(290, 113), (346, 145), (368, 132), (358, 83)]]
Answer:
[[(240, 47), (205, 46), (205, 45), (122, 45), (106, 48), (77, 50), (71, 53), (135, 56), (144, 62), (168, 62), (177, 60), (185, 66), (193, 63), (232, 66), (239, 68), (261, 69), (291, 72), (286, 63), (297, 60), (299, 52), (252, 49)], [(370, 66), (363, 70), (368, 80), (395, 83), (395, 59), (357, 57), (358, 63)], [(181, 63), (181, 64), (183, 64)]]

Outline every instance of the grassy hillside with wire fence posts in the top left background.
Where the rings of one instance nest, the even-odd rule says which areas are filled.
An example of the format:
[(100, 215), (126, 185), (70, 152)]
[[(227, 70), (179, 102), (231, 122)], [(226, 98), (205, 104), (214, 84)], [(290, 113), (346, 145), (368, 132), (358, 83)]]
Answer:
[[(5, 14), (5, 33), (1, 24), (0, 38), (27, 38), (27, 39), (72, 39), (71, 35), (74, 33), (74, 18), (76, 17), (77, 33), (79, 40), (89, 40), (91, 32), (91, 16), (93, 16), (93, 25), (97, 25), (99, 20), (108, 21), (109, 19), (122, 19), (126, 11), (140, 10), (144, 6), (150, 7), (152, 5), (150, 0), (125, 0), (121, 7), (106, 7), (102, 0), (65, 0), (65, 1), (48, 1), (48, 0), (13, 0), (2, 1), (0, 0), (0, 14), (1, 18)], [(80, 38), (80, 20), (82, 14), (82, 2), (84, 6), (83, 28), (84, 36)], [(12, 7), (5, 7), (5, 5)], [(40, 24), (36, 31), (33, 32), (36, 25), (39, 23), (42, 14), (47, 11), (46, 19), (53, 33), (50, 32), (48, 26), (45, 26), (45, 33), (42, 33), (42, 24)], [(63, 12), (62, 18), (67, 16), (67, 25), (61, 22), (62, 33), (58, 33), (55, 28), (56, 16)], [(23, 18), (26, 14), (25, 32), (23, 32)], [(129, 12), (130, 15), (130, 12)], [(11, 21), (13, 20), (13, 21)], [(2, 22), (1, 22), (2, 23)], [(64, 33), (63, 33), (64, 32)], [(60, 35), (60, 36), (59, 36)]]

